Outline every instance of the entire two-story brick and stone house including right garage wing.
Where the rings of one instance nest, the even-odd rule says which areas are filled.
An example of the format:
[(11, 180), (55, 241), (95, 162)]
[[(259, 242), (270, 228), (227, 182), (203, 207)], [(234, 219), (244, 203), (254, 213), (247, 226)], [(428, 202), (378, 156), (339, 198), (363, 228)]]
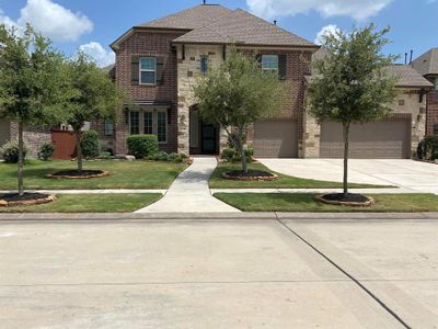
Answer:
[[(130, 134), (157, 134), (160, 148), (191, 155), (219, 154), (227, 137), (203, 123), (193, 87), (218, 66), (230, 45), (261, 55), (262, 68), (276, 70), (290, 90), (281, 114), (254, 123), (247, 144), (257, 157), (341, 157), (342, 132), (335, 123), (316, 124), (306, 110), (306, 84), (319, 46), (241, 9), (200, 4), (134, 26), (112, 44), (115, 81), (132, 104), (124, 120), (95, 124), (117, 154)], [(402, 90), (385, 121), (353, 128), (355, 158), (410, 158), (425, 135), (426, 97), (433, 84), (407, 66), (391, 67)]]

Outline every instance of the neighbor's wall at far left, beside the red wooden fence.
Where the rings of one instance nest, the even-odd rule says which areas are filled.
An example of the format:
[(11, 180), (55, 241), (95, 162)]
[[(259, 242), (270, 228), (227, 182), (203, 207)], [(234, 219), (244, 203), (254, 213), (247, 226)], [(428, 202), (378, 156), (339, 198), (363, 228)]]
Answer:
[[(11, 140), (19, 140), (19, 125), (11, 123)], [(27, 157), (37, 158), (43, 143), (51, 141), (50, 127), (25, 127), (23, 140), (27, 146)]]

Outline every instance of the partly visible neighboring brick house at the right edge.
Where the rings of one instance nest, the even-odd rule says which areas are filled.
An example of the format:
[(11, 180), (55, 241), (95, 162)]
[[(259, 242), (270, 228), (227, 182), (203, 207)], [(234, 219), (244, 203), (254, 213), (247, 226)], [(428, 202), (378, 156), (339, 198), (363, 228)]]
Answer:
[(435, 91), (427, 94), (427, 135), (438, 135), (438, 48), (433, 48), (413, 61), (413, 67), (435, 84)]

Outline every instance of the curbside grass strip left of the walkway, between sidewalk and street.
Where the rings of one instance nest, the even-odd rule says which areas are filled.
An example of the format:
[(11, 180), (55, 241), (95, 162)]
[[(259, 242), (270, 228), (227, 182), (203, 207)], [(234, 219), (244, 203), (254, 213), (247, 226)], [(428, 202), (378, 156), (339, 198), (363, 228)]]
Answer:
[(132, 213), (162, 197), (153, 194), (60, 194), (47, 204), (0, 207), (1, 213)]

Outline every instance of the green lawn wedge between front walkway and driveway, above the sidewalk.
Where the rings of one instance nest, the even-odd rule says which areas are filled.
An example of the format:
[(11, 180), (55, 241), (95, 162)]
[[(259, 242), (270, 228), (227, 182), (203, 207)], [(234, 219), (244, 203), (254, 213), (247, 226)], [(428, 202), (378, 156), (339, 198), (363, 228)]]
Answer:
[[(240, 164), (219, 164), (210, 178), (210, 189), (341, 189), (342, 183), (326, 182), (300, 179), (286, 174), (278, 174), (275, 181), (233, 181), (222, 178), (222, 173), (231, 170), (241, 170)], [(267, 167), (261, 163), (249, 164), (250, 169), (269, 171)], [(380, 189), (380, 188), (394, 188), (383, 185), (368, 185), (368, 184), (349, 184), (350, 189)]]

